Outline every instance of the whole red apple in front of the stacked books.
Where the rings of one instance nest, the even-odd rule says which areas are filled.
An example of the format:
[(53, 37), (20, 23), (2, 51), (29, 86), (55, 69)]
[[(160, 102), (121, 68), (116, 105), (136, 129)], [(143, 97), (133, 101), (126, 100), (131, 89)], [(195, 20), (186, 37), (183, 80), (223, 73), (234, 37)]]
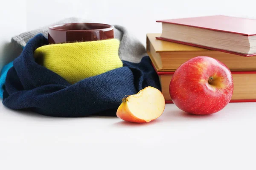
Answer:
[(222, 110), (230, 102), (233, 88), (232, 74), (224, 63), (198, 56), (177, 68), (169, 92), (181, 110), (204, 115)]

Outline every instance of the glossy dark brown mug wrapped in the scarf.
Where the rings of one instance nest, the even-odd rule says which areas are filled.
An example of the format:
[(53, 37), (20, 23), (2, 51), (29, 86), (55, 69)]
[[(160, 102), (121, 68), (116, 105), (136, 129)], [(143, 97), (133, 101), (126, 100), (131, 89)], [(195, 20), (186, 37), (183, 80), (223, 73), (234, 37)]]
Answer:
[(114, 26), (102, 23), (65, 23), (48, 28), (49, 44), (107, 40), (114, 38)]

